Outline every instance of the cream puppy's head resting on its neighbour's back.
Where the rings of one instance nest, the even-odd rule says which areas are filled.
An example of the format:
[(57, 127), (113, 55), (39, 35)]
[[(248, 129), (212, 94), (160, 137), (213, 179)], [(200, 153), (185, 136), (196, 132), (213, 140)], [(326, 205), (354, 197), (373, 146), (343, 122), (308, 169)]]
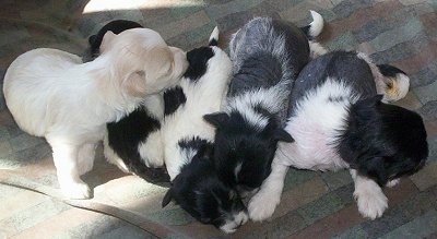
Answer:
[(143, 97), (175, 85), (188, 67), (186, 53), (169, 47), (158, 33), (131, 28), (107, 32), (101, 57), (108, 57), (111, 75), (126, 94)]

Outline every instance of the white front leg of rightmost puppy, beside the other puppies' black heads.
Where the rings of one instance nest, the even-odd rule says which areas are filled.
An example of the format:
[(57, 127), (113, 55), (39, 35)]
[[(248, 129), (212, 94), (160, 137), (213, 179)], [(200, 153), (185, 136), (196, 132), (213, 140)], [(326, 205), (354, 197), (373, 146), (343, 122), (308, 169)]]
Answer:
[(269, 177), (262, 182), (258, 193), (250, 199), (248, 211), (252, 220), (261, 222), (271, 217), (280, 204), (288, 167), (276, 159), (273, 159)]

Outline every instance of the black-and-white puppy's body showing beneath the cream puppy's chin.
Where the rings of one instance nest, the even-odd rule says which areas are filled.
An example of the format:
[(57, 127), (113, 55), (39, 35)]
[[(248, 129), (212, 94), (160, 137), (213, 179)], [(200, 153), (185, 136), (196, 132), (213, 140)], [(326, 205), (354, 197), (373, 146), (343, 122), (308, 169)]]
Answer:
[(162, 120), (164, 98), (153, 94), (121, 120), (107, 123), (103, 141), (106, 159), (149, 182), (169, 182), (163, 164)]

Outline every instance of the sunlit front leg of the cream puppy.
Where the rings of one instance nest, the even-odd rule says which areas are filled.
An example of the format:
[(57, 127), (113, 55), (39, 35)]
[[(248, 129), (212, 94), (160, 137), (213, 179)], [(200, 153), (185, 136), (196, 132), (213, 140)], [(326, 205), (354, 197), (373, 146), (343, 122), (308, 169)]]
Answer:
[(70, 199), (88, 199), (90, 188), (79, 177), (78, 151), (75, 145), (50, 143), (59, 186)]

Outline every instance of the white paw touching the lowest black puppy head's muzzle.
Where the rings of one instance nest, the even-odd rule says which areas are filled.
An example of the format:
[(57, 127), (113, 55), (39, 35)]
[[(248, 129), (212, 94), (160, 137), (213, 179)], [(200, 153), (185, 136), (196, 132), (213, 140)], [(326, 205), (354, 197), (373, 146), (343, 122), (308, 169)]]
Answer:
[(249, 202), (248, 211), (251, 220), (261, 222), (271, 217), (280, 204), (281, 195), (274, 195), (274, 193), (258, 192), (255, 194)]

